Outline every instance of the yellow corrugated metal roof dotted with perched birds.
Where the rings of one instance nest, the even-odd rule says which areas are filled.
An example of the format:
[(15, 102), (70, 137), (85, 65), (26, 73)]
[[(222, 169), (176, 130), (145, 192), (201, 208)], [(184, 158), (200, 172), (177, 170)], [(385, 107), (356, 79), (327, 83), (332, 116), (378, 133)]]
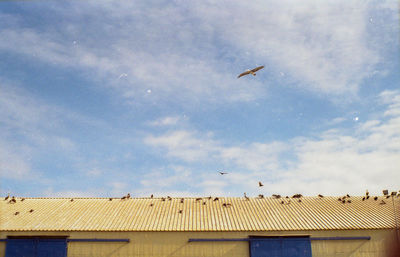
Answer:
[[(396, 227), (400, 198), (21, 198), (0, 200), (0, 231), (290, 231)], [(381, 204), (382, 200), (386, 204)], [(284, 202), (283, 204), (281, 202)], [(30, 210), (33, 210), (30, 212)], [(16, 214), (18, 212), (18, 214)], [(399, 220), (397, 221), (399, 222)]]

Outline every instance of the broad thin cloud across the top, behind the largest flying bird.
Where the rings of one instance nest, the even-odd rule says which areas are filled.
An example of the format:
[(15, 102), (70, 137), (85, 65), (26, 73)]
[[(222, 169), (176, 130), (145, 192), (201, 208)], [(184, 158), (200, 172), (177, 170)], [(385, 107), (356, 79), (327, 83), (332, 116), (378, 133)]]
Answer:
[[(0, 32), (7, 38), (0, 50), (81, 71), (132, 103), (180, 99), (195, 105), (265, 96), (271, 79), (236, 79), (256, 63), (266, 65), (264, 72), (272, 80), (284, 71), (310, 91), (355, 94), (384, 49), (371, 43), (379, 38), (367, 33), (368, 13), (387, 7), (364, 1), (166, 6), (113, 1), (70, 3), (65, 6), (68, 13), (49, 8), (67, 16), (87, 15), (93, 22), (72, 22), (53, 33), (47, 27), (26, 27), (22, 17), (14, 17)], [(121, 74), (127, 76), (121, 79)]]

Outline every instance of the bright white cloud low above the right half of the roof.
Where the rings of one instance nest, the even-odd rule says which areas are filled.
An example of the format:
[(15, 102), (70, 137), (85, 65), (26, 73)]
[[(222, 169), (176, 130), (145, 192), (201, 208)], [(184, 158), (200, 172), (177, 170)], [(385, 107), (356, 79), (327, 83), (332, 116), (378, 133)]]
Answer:
[[(211, 192), (379, 193), (385, 187), (396, 189), (400, 181), (399, 96), (399, 91), (383, 92), (377, 102), (387, 106), (382, 113), (391, 110), (389, 118), (360, 121), (354, 132), (331, 129), (314, 138), (227, 146), (210, 135), (175, 131), (149, 136), (145, 143), (173, 159), (233, 167), (223, 181), (217, 170), (197, 176), (202, 181), (197, 183)], [(258, 181), (265, 186), (257, 190)]]

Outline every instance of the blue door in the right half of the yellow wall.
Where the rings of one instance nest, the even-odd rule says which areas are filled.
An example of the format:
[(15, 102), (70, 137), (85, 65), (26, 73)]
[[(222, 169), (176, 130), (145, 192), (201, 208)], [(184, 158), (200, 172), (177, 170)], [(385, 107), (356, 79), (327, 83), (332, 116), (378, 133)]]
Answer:
[(311, 257), (309, 237), (251, 238), (251, 257)]

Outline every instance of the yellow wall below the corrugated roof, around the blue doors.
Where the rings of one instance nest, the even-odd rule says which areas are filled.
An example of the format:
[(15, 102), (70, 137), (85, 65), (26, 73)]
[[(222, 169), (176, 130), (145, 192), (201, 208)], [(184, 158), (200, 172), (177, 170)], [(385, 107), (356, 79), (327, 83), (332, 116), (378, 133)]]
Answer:
[[(245, 257), (248, 242), (191, 242), (189, 238), (246, 238), (249, 235), (312, 237), (370, 236), (371, 240), (312, 241), (313, 257), (398, 257), (394, 230), (310, 231), (310, 232), (0, 232), (7, 236), (69, 236), (69, 238), (129, 238), (130, 243), (70, 242), (68, 257)], [(0, 257), (5, 256), (0, 242)]]

